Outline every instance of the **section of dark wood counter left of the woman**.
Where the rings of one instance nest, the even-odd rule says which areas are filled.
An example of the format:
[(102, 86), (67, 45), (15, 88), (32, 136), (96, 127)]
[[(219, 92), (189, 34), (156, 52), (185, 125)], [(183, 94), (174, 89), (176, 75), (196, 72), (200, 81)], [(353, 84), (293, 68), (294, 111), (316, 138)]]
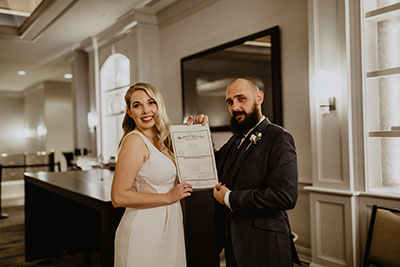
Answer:
[(124, 212), (111, 205), (113, 172), (25, 173), (25, 257), (96, 250), (113, 266), (114, 234)]

